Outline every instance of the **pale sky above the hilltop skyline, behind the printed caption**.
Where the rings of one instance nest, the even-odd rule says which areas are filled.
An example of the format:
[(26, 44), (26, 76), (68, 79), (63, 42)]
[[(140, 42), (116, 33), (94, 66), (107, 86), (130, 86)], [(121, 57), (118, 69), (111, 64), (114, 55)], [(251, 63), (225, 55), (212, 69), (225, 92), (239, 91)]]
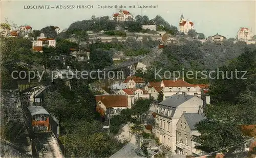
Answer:
[[(1, 21), (8, 18), (15, 24), (29, 24), (40, 30), (56, 25), (67, 29), (72, 22), (95, 16), (111, 16), (117, 9), (98, 9), (97, 5), (158, 5), (158, 9), (143, 9), (143, 15), (154, 18), (161, 15), (178, 27), (181, 13), (185, 19), (194, 21), (195, 29), (206, 36), (219, 33), (227, 38), (235, 37), (240, 27), (251, 28), (255, 34), (255, 1), (2, 1)], [(94, 5), (93, 9), (24, 9), (28, 5)], [(141, 9), (127, 9), (140, 15)]]

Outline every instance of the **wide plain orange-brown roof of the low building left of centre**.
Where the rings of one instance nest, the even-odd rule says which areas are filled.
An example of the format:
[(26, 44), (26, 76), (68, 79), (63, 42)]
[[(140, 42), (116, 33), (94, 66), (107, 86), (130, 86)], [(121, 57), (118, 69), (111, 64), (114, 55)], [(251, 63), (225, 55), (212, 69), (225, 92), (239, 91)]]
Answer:
[(127, 107), (127, 95), (96, 95), (96, 102), (101, 101), (106, 108)]

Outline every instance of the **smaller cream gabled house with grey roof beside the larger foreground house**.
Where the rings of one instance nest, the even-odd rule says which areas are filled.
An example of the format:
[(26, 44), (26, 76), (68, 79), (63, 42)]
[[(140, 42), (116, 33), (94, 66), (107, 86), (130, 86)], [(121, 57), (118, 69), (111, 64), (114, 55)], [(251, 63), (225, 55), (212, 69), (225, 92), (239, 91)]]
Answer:
[(196, 124), (204, 119), (201, 107), (197, 113), (184, 113), (176, 124), (176, 153), (182, 155), (201, 155), (202, 151), (195, 148), (193, 137), (200, 136)]

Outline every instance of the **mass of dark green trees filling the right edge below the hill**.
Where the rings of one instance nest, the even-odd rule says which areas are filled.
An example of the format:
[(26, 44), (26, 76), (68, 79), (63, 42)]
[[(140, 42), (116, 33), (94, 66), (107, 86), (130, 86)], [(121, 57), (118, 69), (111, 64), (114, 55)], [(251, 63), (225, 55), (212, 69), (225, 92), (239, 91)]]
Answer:
[[(206, 119), (197, 125), (202, 134), (196, 138), (201, 144), (198, 148), (210, 152), (248, 139), (244, 137), (241, 125), (256, 123), (255, 59), (255, 48), (246, 49), (238, 58), (220, 68), (225, 73), (224, 79), (212, 82), (211, 105), (204, 109)], [(240, 72), (235, 74), (235, 69)]]

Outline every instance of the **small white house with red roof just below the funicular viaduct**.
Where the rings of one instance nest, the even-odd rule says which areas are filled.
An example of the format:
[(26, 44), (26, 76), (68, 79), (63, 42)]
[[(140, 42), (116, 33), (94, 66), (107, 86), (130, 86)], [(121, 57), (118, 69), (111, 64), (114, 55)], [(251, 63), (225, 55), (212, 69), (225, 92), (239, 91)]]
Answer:
[(128, 76), (124, 82), (127, 88), (144, 88), (145, 81), (138, 76)]

